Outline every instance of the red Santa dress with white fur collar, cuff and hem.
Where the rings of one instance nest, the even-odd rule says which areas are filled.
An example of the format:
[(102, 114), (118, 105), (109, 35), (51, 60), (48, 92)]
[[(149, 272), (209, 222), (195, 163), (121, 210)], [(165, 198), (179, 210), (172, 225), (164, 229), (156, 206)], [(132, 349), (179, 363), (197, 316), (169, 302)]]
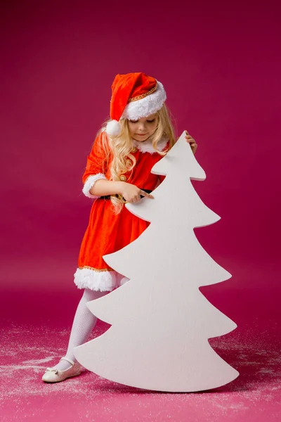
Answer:
[[(86, 162), (83, 174), (83, 193), (93, 198), (89, 217), (89, 225), (84, 234), (79, 252), (78, 268), (74, 274), (74, 283), (78, 288), (111, 291), (128, 281), (118, 274), (103, 260), (103, 255), (116, 252), (136, 240), (150, 224), (131, 214), (126, 207), (119, 214), (112, 210), (109, 199), (93, 196), (89, 193), (98, 179), (110, 179), (110, 159), (106, 162), (106, 152), (102, 136), (97, 136)], [(163, 138), (157, 148), (164, 151), (169, 147), (168, 140)], [(153, 191), (163, 177), (151, 173), (153, 165), (161, 160), (162, 155), (152, 147), (150, 140), (134, 141), (131, 153), (136, 158), (136, 166), (131, 172), (122, 174), (120, 180), (134, 184), (141, 189)]]

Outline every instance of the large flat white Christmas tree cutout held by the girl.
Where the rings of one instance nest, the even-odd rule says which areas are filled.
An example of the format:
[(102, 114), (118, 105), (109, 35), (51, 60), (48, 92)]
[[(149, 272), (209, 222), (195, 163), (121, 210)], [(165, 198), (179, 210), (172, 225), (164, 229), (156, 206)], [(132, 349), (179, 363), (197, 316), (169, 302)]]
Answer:
[(190, 182), (206, 175), (184, 133), (152, 173), (166, 175), (153, 192), (155, 199), (126, 204), (150, 226), (136, 241), (104, 257), (130, 281), (87, 304), (112, 326), (74, 354), (86, 369), (133, 387), (166, 392), (216, 388), (239, 373), (208, 339), (233, 331), (236, 324), (199, 288), (231, 275), (202, 248), (193, 229), (220, 217), (202, 203)]

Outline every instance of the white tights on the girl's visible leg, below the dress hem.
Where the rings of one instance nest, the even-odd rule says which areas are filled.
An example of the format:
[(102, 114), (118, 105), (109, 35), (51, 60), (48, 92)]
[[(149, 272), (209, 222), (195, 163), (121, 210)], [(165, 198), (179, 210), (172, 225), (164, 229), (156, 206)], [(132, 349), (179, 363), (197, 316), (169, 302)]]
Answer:
[[(70, 333), (70, 341), (68, 343), (67, 352), (65, 357), (71, 359), (73, 362), (76, 362), (76, 359), (73, 354), (73, 349), (76, 346), (82, 345), (88, 340), (93, 327), (96, 325), (97, 318), (94, 316), (91, 311), (86, 306), (86, 302), (91, 300), (101, 298), (109, 292), (100, 292), (89, 290), (85, 288), (83, 296), (77, 307), (77, 311), (74, 316), (72, 330)], [(54, 369), (60, 369), (60, 371), (65, 371), (65, 369), (70, 368), (70, 363), (62, 360), (57, 365), (53, 366)]]

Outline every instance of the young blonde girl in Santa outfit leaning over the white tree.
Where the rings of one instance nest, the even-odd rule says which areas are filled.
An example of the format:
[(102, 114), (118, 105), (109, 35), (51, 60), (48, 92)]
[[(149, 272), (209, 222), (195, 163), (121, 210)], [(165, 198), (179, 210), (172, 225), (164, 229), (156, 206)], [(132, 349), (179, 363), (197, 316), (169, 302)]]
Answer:
[[(98, 132), (82, 178), (83, 193), (94, 199), (74, 274), (74, 283), (84, 293), (65, 357), (46, 369), (42, 380), (47, 383), (79, 375), (73, 349), (86, 342), (97, 320), (86, 302), (128, 281), (108, 267), (103, 255), (124, 248), (148, 227), (124, 203), (152, 200), (151, 192), (164, 178), (150, 170), (175, 143), (165, 100), (163, 85), (141, 72), (117, 75), (112, 84), (111, 120)], [(195, 140), (188, 132), (185, 137), (195, 153)]]

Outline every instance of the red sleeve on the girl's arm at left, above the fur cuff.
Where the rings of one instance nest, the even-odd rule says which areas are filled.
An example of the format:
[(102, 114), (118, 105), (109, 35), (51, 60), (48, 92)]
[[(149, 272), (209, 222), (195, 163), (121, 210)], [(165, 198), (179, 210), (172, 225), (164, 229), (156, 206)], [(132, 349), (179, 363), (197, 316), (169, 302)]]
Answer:
[(105, 174), (107, 171), (110, 148), (107, 143), (107, 135), (101, 132), (96, 137), (91, 153), (87, 157), (86, 169), (82, 176), (83, 183), (93, 174)]

